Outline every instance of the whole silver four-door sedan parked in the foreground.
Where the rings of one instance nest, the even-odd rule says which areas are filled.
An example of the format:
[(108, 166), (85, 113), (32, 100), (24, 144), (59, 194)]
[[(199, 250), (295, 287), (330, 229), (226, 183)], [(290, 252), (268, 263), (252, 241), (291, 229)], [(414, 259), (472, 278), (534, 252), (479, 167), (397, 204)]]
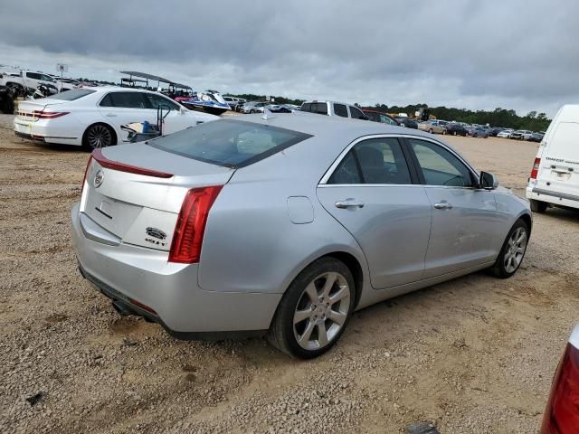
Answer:
[(253, 115), (98, 149), (71, 213), (81, 274), (177, 337), (266, 334), (303, 358), (362, 307), (479, 269), (511, 277), (528, 202), (407, 131)]

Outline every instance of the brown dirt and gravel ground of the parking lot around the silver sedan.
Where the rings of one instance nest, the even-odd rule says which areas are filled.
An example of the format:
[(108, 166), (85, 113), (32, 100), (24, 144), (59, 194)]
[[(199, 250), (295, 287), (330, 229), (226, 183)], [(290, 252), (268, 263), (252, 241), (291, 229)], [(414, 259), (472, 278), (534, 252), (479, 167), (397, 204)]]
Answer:
[[(76, 270), (71, 205), (87, 154), (0, 118), (0, 432), (536, 432), (579, 319), (579, 213), (537, 215), (514, 278), (485, 273), (357, 313), (329, 354), (261, 339), (177, 342), (122, 318)], [(536, 144), (449, 137), (524, 194)], [(31, 405), (27, 398), (39, 398)]]

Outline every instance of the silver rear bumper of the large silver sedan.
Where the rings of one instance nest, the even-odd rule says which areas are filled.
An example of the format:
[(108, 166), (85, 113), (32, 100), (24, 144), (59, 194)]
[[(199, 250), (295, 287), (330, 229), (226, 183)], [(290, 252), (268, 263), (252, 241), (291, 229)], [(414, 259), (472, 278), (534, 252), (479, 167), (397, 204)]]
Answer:
[(78, 203), (71, 217), (72, 243), (83, 277), (135, 315), (163, 325), (171, 335), (222, 339), (260, 335), (270, 327), (281, 294), (205, 291), (197, 284), (197, 264), (167, 262), (166, 251), (87, 239)]

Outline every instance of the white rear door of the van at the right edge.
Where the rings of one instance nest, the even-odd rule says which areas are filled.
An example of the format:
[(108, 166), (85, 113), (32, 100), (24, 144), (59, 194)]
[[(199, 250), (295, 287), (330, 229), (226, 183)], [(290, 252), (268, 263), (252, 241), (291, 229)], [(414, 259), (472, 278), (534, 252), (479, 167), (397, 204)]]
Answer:
[(543, 152), (535, 190), (579, 200), (579, 123), (560, 122), (556, 126)]

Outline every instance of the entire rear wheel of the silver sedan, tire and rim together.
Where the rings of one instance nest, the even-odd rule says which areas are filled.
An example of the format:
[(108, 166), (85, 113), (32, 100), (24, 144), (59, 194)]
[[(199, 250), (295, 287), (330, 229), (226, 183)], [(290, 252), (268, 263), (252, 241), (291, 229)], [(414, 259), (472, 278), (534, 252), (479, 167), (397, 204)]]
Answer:
[(326, 353), (344, 333), (355, 295), (354, 278), (343, 262), (318, 259), (289, 285), (268, 340), (292, 357), (311, 359)]

